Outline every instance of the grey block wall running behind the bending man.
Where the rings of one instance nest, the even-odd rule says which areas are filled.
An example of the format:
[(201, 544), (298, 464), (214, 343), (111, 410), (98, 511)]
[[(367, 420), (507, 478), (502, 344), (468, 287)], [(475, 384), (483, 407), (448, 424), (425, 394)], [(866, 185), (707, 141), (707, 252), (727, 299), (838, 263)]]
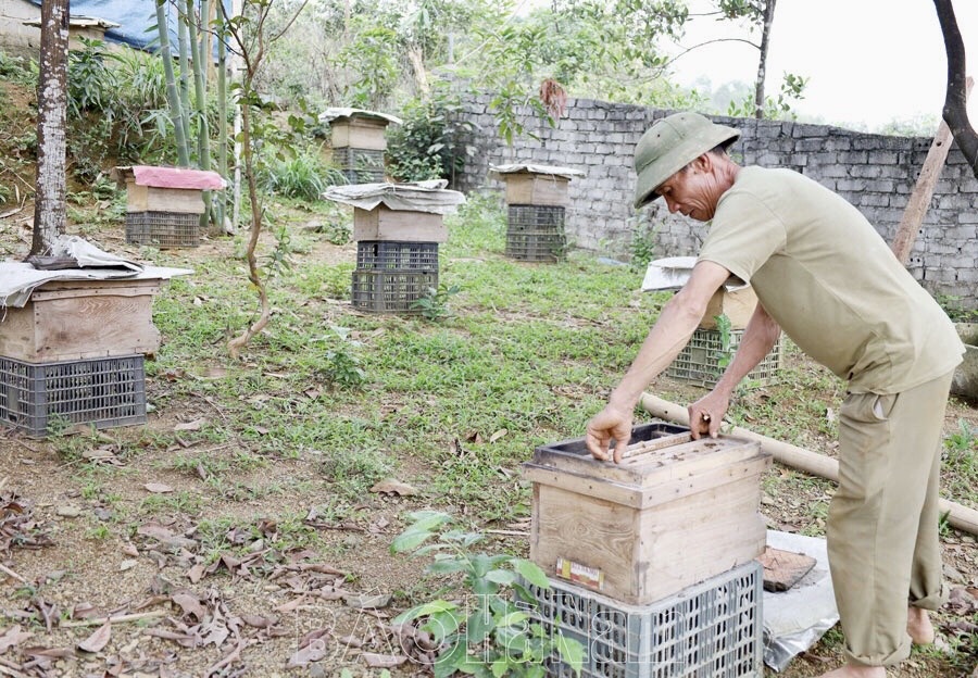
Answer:
[[(524, 124), (527, 135), (510, 147), (498, 135), (489, 96), (464, 99), (464, 115), (475, 123), (465, 142), (478, 149), (456, 179), (459, 190), (494, 190), (490, 164), (531, 162), (574, 167), (585, 173), (570, 181), (565, 228), (572, 246), (627, 258), (632, 235), (655, 233), (656, 256), (693, 255), (706, 225), (670, 215), (662, 201), (636, 213), (631, 208), (632, 155), (642, 133), (672, 111), (569, 99), (551, 128), (538, 118)], [(892, 242), (907, 199), (930, 148), (930, 138), (869, 135), (839, 127), (714, 116), (737, 127), (741, 138), (731, 154), (744, 165), (788, 167), (836, 190), (852, 202)], [(907, 268), (937, 297), (956, 297), (978, 307), (978, 179), (956, 146), (935, 189)]]

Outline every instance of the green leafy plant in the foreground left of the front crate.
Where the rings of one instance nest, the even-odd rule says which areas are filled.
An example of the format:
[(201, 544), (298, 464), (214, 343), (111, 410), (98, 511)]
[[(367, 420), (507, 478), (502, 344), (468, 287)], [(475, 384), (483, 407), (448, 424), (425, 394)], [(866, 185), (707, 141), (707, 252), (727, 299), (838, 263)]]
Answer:
[[(519, 579), (549, 588), (543, 570), (531, 561), (513, 555), (474, 552), (472, 548), (482, 540), (482, 535), (443, 529), (452, 522), (444, 513), (418, 511), (409, 514), (409, 518), (412, 524), (394, 539), (391, 552), (434, 554), (427, 572), (461, 574), (467, 592), (462, 602), (434, 600), (393, 619), (398, 625), (418, 624), (438, 643), (435, 678), (455, 673), (480, 678), (542, 678), (547, 673), (544, 662), (553, 656), (560, 656), (580, 674), (580, 643), (559, 630), (549, 632), (528, 612), (534, 598)], [(432, 537), (438, 543), (423, 545)], [(517, 605), (511, 592), (524, 604)]]

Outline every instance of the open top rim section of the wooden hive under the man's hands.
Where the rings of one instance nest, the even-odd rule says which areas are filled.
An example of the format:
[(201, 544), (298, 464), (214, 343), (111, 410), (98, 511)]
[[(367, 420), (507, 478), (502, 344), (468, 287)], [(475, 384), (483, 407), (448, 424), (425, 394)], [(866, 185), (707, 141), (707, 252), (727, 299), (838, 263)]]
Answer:
[(688, 428), (655, 420), (632, 428), (629, 452), (619, 464), (595, 460), (585, 439), (575, 438), (537, 448), (525, 467), (575, 476), (589, 482), (594, 494), (609, 493), (602, 485), (607, 485), (612, 494), (630, 490), (644, 494), (657, 486), (712, 474), (760, 454), (755, 441), (729, 436), (692, 440)]

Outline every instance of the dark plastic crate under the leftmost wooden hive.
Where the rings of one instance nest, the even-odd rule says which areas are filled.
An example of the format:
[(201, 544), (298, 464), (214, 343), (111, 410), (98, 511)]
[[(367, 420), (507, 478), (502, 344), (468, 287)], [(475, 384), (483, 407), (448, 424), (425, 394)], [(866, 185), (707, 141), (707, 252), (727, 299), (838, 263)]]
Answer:
[(43, 437), (63, 426), (145, 423), (142, 355), (54, 363), (0, 356), (0, 424)]

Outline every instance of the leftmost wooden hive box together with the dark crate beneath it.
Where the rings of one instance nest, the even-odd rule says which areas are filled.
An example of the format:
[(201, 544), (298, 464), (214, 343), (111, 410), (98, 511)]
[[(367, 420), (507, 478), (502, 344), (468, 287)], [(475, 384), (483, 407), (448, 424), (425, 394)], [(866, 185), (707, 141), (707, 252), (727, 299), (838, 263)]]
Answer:
[(34, 437), (146, 422), (143, 354), (160, 280), (41, 285), (0, 322), (0, 425)]

